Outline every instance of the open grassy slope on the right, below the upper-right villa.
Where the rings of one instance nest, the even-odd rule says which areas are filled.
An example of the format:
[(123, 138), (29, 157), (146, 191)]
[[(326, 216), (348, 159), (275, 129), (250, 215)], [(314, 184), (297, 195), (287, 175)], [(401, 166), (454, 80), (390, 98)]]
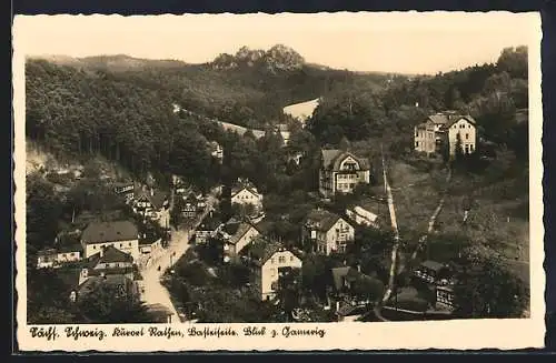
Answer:
[[(455, 173), (446, 184), (447, 169), (434, 161), (388, 161), (388, 179), (394, 194), (398, 229), (409, 244), (427, 231), (431, 214), (448, 186), (444, 206), (423, 258), (449, 261), (460, 250), (449, 235), (460, 235), (498, 254), (523, 281), (529, 281), (528, 193), (520, 189), (526, 175), (512, 175), (488, 182), (484, 175)], [(380, 175), (381, 177), (381, 175)], [(380, 180), (381, 184), (381, 180)], [(375, 186), (384, 195), (384, 186)], [(471, 209), (464, 223), (464, 205), (471, 199)], [(379, 211), (389, 224), (387, 205)]]

